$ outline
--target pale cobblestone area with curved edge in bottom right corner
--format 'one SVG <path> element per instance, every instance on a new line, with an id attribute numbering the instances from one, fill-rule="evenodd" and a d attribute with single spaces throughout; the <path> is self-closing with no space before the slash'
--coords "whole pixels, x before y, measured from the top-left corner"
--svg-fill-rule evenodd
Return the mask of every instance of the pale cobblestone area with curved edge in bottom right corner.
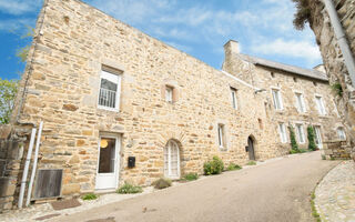
<path id="1" fill-rule="evenodd" d="M 322 221 L 355 222 L 355 163 L 344 161 L 334 168 L 315 191 Z"/>

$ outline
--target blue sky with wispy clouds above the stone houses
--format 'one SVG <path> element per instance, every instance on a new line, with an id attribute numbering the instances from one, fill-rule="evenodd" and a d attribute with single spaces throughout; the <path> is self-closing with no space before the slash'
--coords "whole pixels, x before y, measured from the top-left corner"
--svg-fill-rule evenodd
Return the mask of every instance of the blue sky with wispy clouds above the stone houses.
<path id="1" fill-rule="evenodd" d="M 84 0 L 105 13 L 221 69 L 223 44 L 242 53 L 303 68 L 322 63 L 313 32 L 297 31 L 291 0 Z M 24 64 L 14 56 L 29 43 L 42 0 L 0 0 L 0 78 L 18 79 Z"/>

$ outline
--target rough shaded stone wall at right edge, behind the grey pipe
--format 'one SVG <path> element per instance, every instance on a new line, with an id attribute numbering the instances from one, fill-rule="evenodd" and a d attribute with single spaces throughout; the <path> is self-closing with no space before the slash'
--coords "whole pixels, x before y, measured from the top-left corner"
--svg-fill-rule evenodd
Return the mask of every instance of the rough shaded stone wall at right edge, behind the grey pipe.
<path id="1" fill-rule="evenodd" d="M 355 57 L 355 1 L 354 0 L 334 0 L 338 12 L 338 18 Z M 310 1 L 311 29 L 315 33 L 321 49 L 322 58 L 329 77 L 331 84 L 339 82 L 343 88 L 343 97 L 336 97 L 336 104 L 343 122 L 352 138 L 353 153 L 355 153 L 355 89 L 352 85 L 347 69 L 341 49 L 337 44 L 329 17 L 325 10 L 324 3 L 320 0 Z M 355 154 L 353 154 L 355 160 Z"/>

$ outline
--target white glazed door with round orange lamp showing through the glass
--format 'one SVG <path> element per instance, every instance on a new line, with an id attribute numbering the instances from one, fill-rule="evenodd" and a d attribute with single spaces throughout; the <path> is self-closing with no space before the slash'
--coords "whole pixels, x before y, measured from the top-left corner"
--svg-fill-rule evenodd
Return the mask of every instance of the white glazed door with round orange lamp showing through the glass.
<path id="1" fill-rule="evenodd" d="M 118 137 L 100 137 L 95 189 L 118 188 L 119 153 L 120 139 Z"/>

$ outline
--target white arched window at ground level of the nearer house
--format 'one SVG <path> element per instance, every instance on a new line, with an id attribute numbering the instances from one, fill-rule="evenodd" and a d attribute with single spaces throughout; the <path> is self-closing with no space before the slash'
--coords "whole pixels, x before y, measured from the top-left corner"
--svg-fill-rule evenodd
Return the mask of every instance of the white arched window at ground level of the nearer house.
<path id="1" fill-rule="evenodd" d="M 169 179 L 180 178 L 180 152 L 175 141 L 168 141 L 164 148 L 164 176 Z"/>

